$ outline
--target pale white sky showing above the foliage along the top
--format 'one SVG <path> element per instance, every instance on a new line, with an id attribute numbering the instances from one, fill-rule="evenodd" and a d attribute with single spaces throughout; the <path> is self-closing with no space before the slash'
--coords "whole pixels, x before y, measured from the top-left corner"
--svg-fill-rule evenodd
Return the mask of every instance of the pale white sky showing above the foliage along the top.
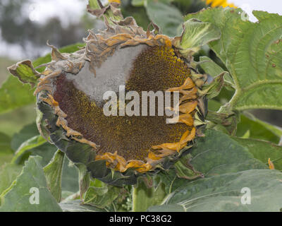
<path id="1" fill-rule="evenodd" d="M 4 0 L 8 1 L 8 0 Z M 68 25 L 73 20 L 78 20 L 85 11 L 87 0 L 31 0 L 32 4 L 23 8 L 25 15 L 30 20 L 37 23 L 44 23 L 47 18 L 59 17 L 62 25 Z M 102 0 L 107 1 L 107 0 Z M 243 8 L 250 16 L 250 20 L 257 21 L 255 16 L 252 16 L 253 10 L 268 11 L 269 13 L 279 13 L 282 15 L 282 0 L 228 0 L 230 3 Z M 16 44 L 6 44 L 1 40 L 0 31 L 0 56 L 8 55 L 8 57 L 16 56 L 21 59 L 23 53 L 20 47 Z"/>

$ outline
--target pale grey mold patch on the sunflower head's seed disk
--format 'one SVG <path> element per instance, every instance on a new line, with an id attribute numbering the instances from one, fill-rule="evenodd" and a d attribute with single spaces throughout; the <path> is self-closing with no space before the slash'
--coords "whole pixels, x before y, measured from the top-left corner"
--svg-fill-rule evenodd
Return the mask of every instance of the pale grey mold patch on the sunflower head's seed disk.
<path id="1" fill-rule="evenodd" d="M 102 66 L 95 69 L 96 77 L 90 71 L 88 61 L 85 61 L 85 65 L 78 74 L 67 73 L 66 77 L 73 81 L 75 88 L 90 97 L 90 100 L 98 105 L 102 104 L 106 91 L 118 93 L 119 86 L 125 85 L 133 61 L 146 47 L 145 44 L 139 44 L 135 47 L 117 49 L 113 56 L 102 63 Z"/>

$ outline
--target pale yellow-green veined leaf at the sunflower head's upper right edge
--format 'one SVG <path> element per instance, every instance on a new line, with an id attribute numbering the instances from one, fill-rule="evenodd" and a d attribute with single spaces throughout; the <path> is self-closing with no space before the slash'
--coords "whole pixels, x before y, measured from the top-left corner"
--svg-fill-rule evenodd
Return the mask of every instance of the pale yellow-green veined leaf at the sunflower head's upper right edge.
<path id="1" fill-rule="evenodd" d="M 183 33 L 176 47 L 184 57 L 194 54 L 200 47 L 214 40 L 219 40 L 221 32 L 212 23 L 190 19 L 183 25 Z"/>

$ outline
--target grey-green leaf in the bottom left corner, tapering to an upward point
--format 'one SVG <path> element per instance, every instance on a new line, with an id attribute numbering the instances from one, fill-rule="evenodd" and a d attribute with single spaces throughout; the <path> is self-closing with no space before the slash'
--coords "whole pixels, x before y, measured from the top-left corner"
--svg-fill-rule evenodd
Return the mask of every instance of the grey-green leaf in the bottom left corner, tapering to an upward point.
<path id="1" fill-rule="evenodd" d="M 0 211 L 61 211 L 59 204 L 47 189 L 40 159 L 41 157 L 30 157 L 21 174 L 1 194 Z M 36 201 L 37 191 L 39 191 L 39 204 L 32 204 L 30 201 Z"/>

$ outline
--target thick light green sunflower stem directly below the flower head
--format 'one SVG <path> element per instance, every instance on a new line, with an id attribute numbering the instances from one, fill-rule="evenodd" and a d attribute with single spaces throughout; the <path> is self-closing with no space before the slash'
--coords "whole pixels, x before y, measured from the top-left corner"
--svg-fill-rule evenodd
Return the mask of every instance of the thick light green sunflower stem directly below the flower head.
<path id="1" fill-rule="evenodd" d="M 133 187 L 133 212 L 145 212 L 150 206 L 160 205 L 165 197 L 164 184 L 149 186 L 146 179 L 140 178 Z"/>

